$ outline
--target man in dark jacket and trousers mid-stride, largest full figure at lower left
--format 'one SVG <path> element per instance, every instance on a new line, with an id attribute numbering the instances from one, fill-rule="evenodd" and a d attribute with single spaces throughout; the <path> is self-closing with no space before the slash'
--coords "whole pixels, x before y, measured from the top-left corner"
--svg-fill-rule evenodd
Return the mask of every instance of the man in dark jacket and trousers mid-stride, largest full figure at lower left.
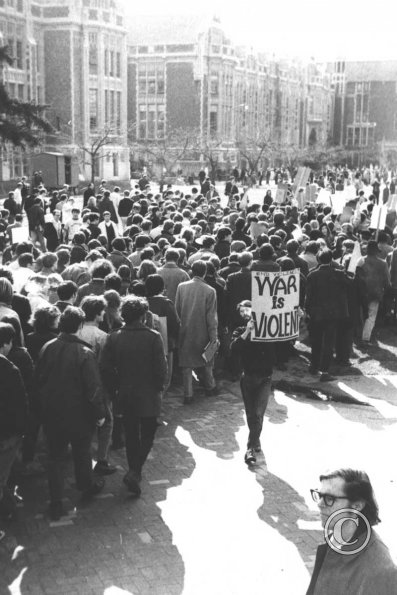
<path id="1" fill-rule="evenodd" d="M 105 482 L 92 475 L 91 440 L 105 421 L 103 390 L 94 352 L 77 333 L 84 321 L 80 308 L 69 306 L 61 315 L 60 335 L 40 352 L 36 374 L 44 433 L 48 444 L 50 516 L 59 519 L 62 507 L 63 460 L 72 445 L 77 489 L 83 497 L 99 493 Z"/>

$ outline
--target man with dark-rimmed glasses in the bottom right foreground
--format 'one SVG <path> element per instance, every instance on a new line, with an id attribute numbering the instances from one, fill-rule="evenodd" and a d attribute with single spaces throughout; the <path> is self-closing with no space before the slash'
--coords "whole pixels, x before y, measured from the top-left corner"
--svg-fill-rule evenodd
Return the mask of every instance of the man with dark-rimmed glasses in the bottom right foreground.
<path id="1" fill-rule="evenodd" d="M 368 475 L 337 469 L 320 482 L 311 494 L 326 543 L 317 549 L 306 595 L 397 595 L 397 568 L 372 530 L 380 519 Z"/>

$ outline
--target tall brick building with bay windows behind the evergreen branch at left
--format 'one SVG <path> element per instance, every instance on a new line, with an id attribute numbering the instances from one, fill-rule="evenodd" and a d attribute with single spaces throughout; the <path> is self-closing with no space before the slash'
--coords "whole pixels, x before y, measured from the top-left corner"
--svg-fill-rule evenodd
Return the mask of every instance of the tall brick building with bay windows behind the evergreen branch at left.
<path id="1" fill-rule="evenodd" d="M 10 22 L 15 22 L 12 45 Z M 0 6 L 0 23 L 5 23 L 1 30 L 6 28 L 16 57 L 13 68 L 4 68 L 9 92 L 49 105 L 55 134 L 44 149 L 68 155 L 78 163 L 80 179 L 89 179 L 92 158 L 83 147 L 90 149 L 106 135 L 94 160 L 95 174 L 128 179 L 127 32 L 119 3 L 8 0 L 7 7 Z M 18 153 L 8 153 L 14 167 L 7 170 L 3 158 L 3 180 L 31 173 L 26 158 L 18 166 Z"/>

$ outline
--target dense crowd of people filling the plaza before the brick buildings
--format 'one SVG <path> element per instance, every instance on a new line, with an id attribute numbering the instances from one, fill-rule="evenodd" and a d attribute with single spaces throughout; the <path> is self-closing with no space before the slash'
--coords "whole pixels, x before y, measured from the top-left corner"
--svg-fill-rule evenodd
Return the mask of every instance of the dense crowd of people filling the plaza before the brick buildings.
<path id="1" fill-rule="evenodd" d="M 232 380 L 241 375 L 245 461 L 254 463 L 273 368 L 287 368 L 294 342 L 250 340 L 252 271 L 299 270 L 301 339 L 311 345 L 308 373 L 321 382 L 333 380 L 335 360 L 350 366 L 355 345 L 370 345 L 377 320 L 394 323 L 395 178 L 372 166 L 330 167 L 300 188 L 295 175 L 261 172 L 254 199 L 238 171 L 221 195 L 204 171 L 188 191 L 156 193 L 143 175 L 126 189 L 89 184 L 81 198 L 25 179 L 9 193 L 0 218 L 2 516 L 16 509 L 16 459 L 22 473 L 40 466 L 41 429 L 52 519 L 65 513 L 69 444 L 84 498 L 116 472 L 111 446 L 126 447 L 123 481 L 139 496 L 162 397 L 178 381 L 186 405 L 197 382 L 216 395 L 215 364 Z M 350 211 L 336 214 L 321 189 L 331 197 L 348 189 Z M 390 207 L 382 229 L 371 227 L 379 205 Z"/>

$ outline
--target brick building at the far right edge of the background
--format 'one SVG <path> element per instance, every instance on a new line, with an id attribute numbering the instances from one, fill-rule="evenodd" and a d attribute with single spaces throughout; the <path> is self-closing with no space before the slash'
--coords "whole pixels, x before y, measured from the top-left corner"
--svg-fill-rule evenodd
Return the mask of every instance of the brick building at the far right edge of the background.
<path id="1" fill-rule="evenodd" d="M 334 144 L 359 152 L 397 151 L 397 61 L 336 62 Z"/>

